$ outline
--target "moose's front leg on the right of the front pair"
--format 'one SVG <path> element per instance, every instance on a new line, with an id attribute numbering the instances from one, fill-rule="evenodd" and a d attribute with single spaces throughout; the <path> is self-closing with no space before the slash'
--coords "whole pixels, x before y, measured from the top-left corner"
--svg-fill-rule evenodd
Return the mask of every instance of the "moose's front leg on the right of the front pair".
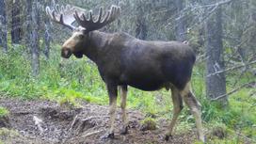
<path id="1" fill-rule="evenodd" d="M 120 87 L 120 108 L 121 108 L 121 122 L 122 122 L 122 128 L 120 130 L 121 135 L 125 135 L 128 133 L 128 120 L 127 120 L 127 114 L 125 111 L 126 97 L 127 97 L 127 86 L 121 86 Z"/>

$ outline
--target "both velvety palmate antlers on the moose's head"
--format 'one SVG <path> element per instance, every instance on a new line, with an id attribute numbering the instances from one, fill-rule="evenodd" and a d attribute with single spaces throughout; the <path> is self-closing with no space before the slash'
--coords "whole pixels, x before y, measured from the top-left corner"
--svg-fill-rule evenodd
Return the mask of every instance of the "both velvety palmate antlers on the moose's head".
<path id="1" fill-rule="evenodd" d="M 98 19 L 94 22 L 92 10 L 89 11 L 89 19 L 86 18 L 85 11 L 83 8 L 71 7 L 70 5 L 66 7 L 56 5 L 53 9 L 46 7 L 46 13 L 57 24 L 62 24 L 73 30 L 75 26 L 72 24 L 76 21 L 79 25 L 86 28 L 87 32 L 100 29 L 104 25 L 112 23 L 120 16 L 120 7 L 111 6 L 105 14 L 103 14 L 103 8 L 100 8 Z M 102 20 L 103 17 L 104 19 Z"/>

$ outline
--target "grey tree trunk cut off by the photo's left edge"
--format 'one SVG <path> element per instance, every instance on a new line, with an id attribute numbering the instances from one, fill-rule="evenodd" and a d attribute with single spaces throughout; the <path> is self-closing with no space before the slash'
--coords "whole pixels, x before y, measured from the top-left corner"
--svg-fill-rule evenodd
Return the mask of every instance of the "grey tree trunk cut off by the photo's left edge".
<path id="1" fill-rule="evenodd" d="M 8 22 L 5 0 L 0 0 L 0 46 L 8 52 Z"/>

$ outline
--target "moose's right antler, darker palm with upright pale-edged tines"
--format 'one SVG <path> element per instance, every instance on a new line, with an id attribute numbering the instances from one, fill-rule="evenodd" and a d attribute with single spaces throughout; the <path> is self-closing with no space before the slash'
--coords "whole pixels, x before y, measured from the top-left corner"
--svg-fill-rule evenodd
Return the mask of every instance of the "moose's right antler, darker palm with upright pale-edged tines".
<path id="1" fill-rule="evenodd" d="M 92 16 L 92 11 L 89 11 L 89 19 L 86 18 L 85 13 L 82 13 L 82 16 L 79 16 L 79 11 L 75 10 L 73 17 L 76 22 L 82 27 L 86 28 L 87 32 L 100 29 L 106 24 L 110 24 L 115 21 L 120 16 L 120 7 L 111 6 L 111 8 L 104 14 L 103 17 L 103 8 L 100 8 L 99 16 L 96 22 Z M 82 18 L 81 18 L 82 17 Z"/>

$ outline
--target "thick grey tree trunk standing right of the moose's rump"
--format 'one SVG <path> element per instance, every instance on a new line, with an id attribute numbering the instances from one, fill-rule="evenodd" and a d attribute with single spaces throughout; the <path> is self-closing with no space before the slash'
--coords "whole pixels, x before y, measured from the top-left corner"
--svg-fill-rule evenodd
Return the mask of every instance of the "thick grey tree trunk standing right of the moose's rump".
<path id="1" fill-rule="evenodd" d="M 222 11 L 219 6 L 215 13 L 206 22 L 206 93 L 209 99 L 226 93 L 225 73 L 223 71 L 224 57 L 222 44 Z M 225 106 L 228 104 L 228 98 L 223 97 L 219 102 Z"/>

